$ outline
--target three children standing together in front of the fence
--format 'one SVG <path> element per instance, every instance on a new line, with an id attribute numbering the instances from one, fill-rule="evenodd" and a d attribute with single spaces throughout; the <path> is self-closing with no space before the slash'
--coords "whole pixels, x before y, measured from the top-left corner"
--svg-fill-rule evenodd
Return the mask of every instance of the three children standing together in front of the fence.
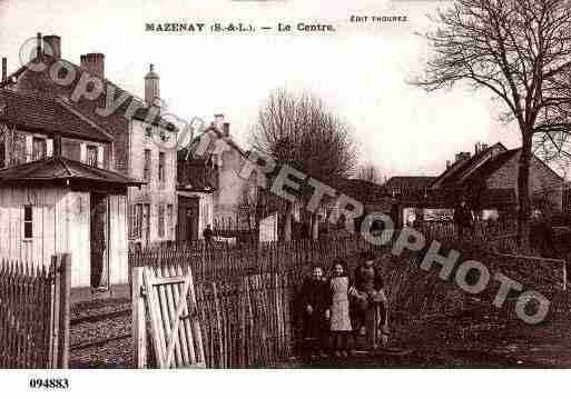
<path id="1" fill-rule="evenodd" d="M 388 307 L 374 255 L 362 255 L 353 278 L 347 271 L 343 260 L 333 262 L 328 278 L 321 266 L 314 266 L 302 286 L 303 350 L 308 357 L 326 357 L 329 348 L 335 357 L 346 357 L 357 348 L 361 335 L 370 350 L 387 341 Z"/>

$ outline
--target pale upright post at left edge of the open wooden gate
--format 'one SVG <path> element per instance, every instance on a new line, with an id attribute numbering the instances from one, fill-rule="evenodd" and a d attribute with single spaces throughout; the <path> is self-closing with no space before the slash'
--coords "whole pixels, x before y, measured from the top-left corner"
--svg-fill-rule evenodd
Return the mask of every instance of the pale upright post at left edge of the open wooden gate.
<path id="1" fill-rule="evenodd" d="M 137 257 L 132 258 L 138 259 Z M 145 298 L 142 297 L 142 265 L 129 265 L 131 273 L 132 311 L 132 361 L 134 367 L 147 367 L 147 326 L 145 322 Z"/>

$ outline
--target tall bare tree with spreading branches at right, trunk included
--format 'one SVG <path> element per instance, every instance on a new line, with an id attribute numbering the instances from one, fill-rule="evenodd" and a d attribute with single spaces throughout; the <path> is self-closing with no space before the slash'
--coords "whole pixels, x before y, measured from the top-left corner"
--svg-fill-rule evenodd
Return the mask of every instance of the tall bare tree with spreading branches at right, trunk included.
<path id="1" fill-rule="evenodd" d="M 515 121 L 522 140 L 518 173 L 518 232 L 528 240 L 531 211 L 529 170 L 533 140 L 567 134 L 571 72 L 571 0 L 455 0 L 425 34 L 433 57 L 414 81 L 426 90 L 467 82 L 485 88 Z"/>

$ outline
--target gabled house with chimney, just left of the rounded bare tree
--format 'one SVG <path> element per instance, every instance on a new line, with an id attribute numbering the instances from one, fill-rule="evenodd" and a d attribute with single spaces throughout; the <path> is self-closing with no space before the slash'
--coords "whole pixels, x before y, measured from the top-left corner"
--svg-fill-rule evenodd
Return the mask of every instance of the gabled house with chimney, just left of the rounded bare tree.
<path id="1" fill-rule="evenodd" d="M 200 150 L 198 151 L 198 149 Z M 275 223 L 262 215 L 260 188 L 265 176 L 254 171 L 249 179 L 239 177 L 248 153 L 232 138 L 230 124 L 224 114 L 215 114 L 213 123 L 194 139 L 188 149 L 178 153 L 177 241 L 201 239 L 211 225 L 218 239 L 258 240 L 275 235 Z M 258 181 L 259 180 L 259 181 Z"/>

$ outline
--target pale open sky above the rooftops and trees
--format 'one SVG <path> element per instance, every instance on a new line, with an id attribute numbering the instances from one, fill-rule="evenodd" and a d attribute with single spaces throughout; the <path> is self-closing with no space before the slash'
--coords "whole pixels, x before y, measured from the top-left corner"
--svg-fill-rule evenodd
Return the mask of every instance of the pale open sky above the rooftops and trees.
<path id="1" fill-rule="evenodd" d="M 9 72 L 37 32 L 61 37 L 62 57 L 105 53 L 105 74 L 144 97 L 149 63 L 160 76 L 168 110 L 190 121 L 224 113 L 247 148 L 250 127 L 279 88 L 324 99 L 353 130 L 361 162 L 391 176 L 436 176 L 476 141 L 519 146 L 513 126 L 499 121 L 490 92 L 457 87 L 426 93 L 407 83 L 430 54 L 415 32 L 431 27 L 439 0 L 0 0 L 0 56 Z M 367 16 L 366 22 L 351 22 Z M 406 16 L 373 22 L 372 16 Z M 220 22 L 255 27 L 289 23 L 293 32 L 147 32 L 146 23 Z M 297 23 L 326 23 L 334 32 L 297 32 Z"/>

